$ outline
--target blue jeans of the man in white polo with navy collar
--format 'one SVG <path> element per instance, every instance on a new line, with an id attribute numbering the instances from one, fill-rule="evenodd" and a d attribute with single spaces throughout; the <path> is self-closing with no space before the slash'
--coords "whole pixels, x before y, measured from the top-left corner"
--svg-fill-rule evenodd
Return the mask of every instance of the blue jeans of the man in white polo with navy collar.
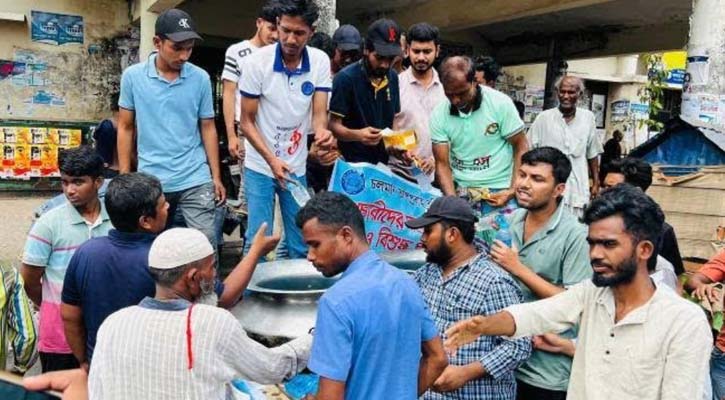
<path id="1" fill-rule="evenodd" d="M 307 187 L 307 180 L 304 176 L 296 177 L 304 187 Z M 292 194 L 282 189 L 276 179 L 267 175 L 244 168 L 244 192 L 247 196 L 247 207 L 249 210 L 247 220 L 247 232 L 244 235 L 244 253 L 249 251 L 252 239 L 263 222 L 267 223 L 267 235 L 272 234 L 274 226 L 274 195 L 279 197 L 280 210 L 282 211 L 282 224 L 284 225 L 284 245 L 289 258 L 306 258 L 307 246 L 302 240 L 302 231 L 295 224 L 295 217 L 300 210 Z M 282 255 L 278 253 L 278 256 Z"/>

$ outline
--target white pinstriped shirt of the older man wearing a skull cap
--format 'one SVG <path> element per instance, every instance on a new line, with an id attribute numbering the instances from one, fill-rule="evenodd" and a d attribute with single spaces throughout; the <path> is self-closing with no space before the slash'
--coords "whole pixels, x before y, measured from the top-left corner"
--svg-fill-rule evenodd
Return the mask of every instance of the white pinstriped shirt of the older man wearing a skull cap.
<path id="1" fill-rule="evenodd" d="M 98 331 L 90 399 L 224 399 L 232 379 L 279 383 L 307 364 L 310 335 L 270 349 L 228 311 L 197 304 L 188 369 L 187 312 L 133 306 L 110 315 Z"/>

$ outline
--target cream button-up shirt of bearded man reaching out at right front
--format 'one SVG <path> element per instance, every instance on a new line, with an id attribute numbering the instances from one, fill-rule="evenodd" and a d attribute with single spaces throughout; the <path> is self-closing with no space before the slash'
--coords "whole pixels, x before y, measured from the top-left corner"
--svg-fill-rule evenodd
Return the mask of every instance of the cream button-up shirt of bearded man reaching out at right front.
<path id="1" fill-rule="evenodd" d="M 701 399 L 710 379 L 712 335 L 700 308 L 669 289 L 614 322 L 611 288 L 591 281 L 506 309 L 514 337 L 579 324 L 568 400 Z"/>

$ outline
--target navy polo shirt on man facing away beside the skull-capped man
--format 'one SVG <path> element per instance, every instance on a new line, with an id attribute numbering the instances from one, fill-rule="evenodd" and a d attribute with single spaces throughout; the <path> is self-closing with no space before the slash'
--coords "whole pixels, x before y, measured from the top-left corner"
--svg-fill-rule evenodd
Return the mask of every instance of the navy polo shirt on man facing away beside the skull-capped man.
<path id="1" fill-rule="evenodd" d="M 156 293 L 148 267 L 149 249 L 155 237 L 113 229 L 107 237 L 85 242 L 71 258 L 61 299 L 83 310 L 89 360 L 98 328 L 106 317 Z"/>

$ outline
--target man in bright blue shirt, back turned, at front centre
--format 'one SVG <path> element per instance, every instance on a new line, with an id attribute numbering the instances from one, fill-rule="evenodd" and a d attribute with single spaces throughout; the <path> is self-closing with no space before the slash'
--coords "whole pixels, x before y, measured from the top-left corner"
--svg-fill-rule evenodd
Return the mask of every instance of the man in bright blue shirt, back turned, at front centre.
<path id="1" fill-rule="evenodd" d="M 320 299 L 308 367 L 320 399 L 413 400 L 448 364 L 420 289 L 371 251 L 360 210 L 322 192 L 297 214 L 307 259 L 330 277 Z"/>

